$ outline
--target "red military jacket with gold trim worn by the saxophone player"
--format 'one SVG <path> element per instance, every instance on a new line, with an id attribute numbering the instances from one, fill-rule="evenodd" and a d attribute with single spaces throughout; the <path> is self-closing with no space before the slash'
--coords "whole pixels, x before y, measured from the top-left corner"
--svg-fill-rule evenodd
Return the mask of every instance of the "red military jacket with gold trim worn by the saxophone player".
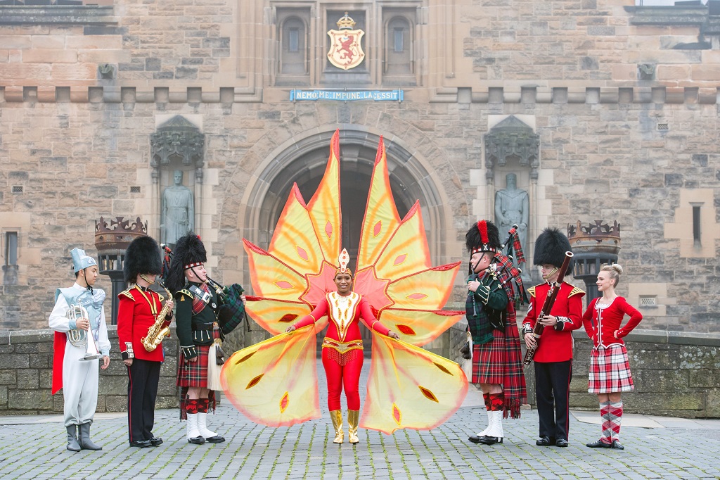
<path id="1" fill-rule="evenodd" d="M 139 358 L 162 362 L 162 345 L 152 352 L 143 347 L 141 339 L 148 334 L 150 327 L 155 324 L 155 317 L 163 308 L 163 296 L 153 290 L 143 290 L 134 285 L 117 295 L 120 303 L 117 306 L 117 337 L 120 340 L 120 355 L 122 360 Z M 172 312 L 165 317 L 165 326 L 170 324 Z"/>

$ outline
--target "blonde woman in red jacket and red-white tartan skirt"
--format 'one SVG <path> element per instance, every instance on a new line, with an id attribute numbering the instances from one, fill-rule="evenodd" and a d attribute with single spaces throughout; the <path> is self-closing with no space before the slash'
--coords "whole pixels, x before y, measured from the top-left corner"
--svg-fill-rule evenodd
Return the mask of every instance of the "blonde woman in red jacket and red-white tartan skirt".
<path id="1" fill-rule="evenodd" d="M 591 301 L 582 316 L 585 332 L 595 344 L 590 355 L 588 392 L 598 394 L 600 417 L 603 417 L 603 437 L 588 443 L 590 448 L 624 450 L 618 440 L 623 416 L 620 396 L 621 392 L 634 390 L 635 387 L 623 337 L 640 323 L 642 314 L 615 293 L 622 272 L 623 267 L 617 264 L 600 269 L 598 290 L 603 296 Z M 621 326 L 626 315 L 630 319 L 625 326 Z"/>

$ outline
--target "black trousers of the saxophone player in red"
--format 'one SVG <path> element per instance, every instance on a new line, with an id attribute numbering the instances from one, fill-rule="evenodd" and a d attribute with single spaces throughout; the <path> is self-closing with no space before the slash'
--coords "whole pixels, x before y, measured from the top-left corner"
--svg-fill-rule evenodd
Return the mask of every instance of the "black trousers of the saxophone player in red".
<path id="1" fill-rule="evenodd" d="M 155 425 L 162 362 L 134 358 L 127 367 L 127 423 L 130 442 L 150 440 Z"/>

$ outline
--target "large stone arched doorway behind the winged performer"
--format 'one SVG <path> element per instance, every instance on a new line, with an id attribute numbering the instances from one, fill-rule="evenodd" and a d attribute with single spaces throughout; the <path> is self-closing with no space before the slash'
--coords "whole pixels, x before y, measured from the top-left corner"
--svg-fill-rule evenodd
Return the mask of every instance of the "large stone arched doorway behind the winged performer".
<path id="1" fill-rule="evenodd" d="M 333 130 L 294 138 L 276 148 L 261 167 L 243 198 L 247 210 L 241 215 L 243 236 L 261 248 L 268 248 L 274 228 L 292 185 L 297 183 L 305 201 L 317 190 L 325 173 Z M 370 177 L 377 154 L 379 135 L 361 130 L 341 130 L 341 208 L 343 246 L 356 262 L 361 223 L 364 218 Z M 410 154 L 397 141 L 384 141 L 390 187 L 397 212 L 404 217 L 416 200 L 420 202 L 423 223 L 433 263 L 444 261 L 446 202 L 423 161 Z M 318 339 L 322 341 L 322 335 Z M 366 347 L 370 342 L 366 342 Z"/>

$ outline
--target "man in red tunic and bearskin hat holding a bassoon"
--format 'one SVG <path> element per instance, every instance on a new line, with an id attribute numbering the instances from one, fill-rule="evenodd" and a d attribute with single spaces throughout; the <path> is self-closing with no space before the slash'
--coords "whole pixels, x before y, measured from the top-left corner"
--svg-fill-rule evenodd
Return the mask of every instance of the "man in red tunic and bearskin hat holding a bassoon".
<path id="1" fill-rule="evenodd" d="M 544 325 L 535 352 L 535 399 L 540 418 L 540 438 L 536 445 L 567 447 L 570 430 L 570 380 L 572 379 L 572 330 L 582 325 L 582 297 L 585 292 L 558 278 L 559 268 L 570 252 L 570 241 L 557 228 L 546 228 L 535 241 L 534 264 L 541 266 L 544 283 L 528 288 L 530 306 L 523 320 L 523 336 L 528 348 L 537 345 L 533 329 Z M 572 268 L 568 268 L 565 275 Z M 553 283 L 559 293 L 550 314 L 539 319 Z"/>

